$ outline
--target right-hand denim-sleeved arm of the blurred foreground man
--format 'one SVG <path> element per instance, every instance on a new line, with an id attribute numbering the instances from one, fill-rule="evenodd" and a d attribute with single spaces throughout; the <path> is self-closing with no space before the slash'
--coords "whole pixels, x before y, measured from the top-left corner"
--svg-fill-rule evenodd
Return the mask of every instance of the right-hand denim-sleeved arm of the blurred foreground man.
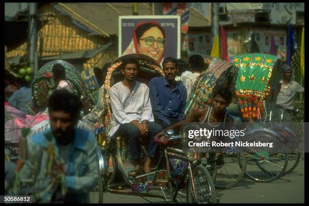
<path id="1" fill-rule="evenodd" d="M 94 135 L 92 133 L 88 134 L 89 146 L 87 148 L 87 158 L 85 163 L 81 163 L 78 171 L 81 175 L 76 174 L 75 176 L 65 176 L 65 184 L 69 191 L 89 192 L 96 184 L 98 175 L 96 155 L 97 144 L 95 142 Z"/>

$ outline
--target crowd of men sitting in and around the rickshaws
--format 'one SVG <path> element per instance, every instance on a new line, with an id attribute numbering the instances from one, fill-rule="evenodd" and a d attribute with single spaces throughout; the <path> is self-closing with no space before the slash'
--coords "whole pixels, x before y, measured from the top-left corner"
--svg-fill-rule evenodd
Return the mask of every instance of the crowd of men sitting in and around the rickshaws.
<path id="1" fill-rule="evenodd" d="M 136 80 L 139 72 L 136 59 L 131 57 L 122 62 L 123 79 L 110 88 L 113 127 L 108 135 L 110 138 L 121 136 L 127 141 L 134 165 L 129 176 L 151 172 L 151 162 L 158 150 L 155 139 L 165 141 L 162 132 L 168 129 L 178 131 L 188 122 L 212 122 L 220 128 L 233 122 L 227 112 L 233 95 L 224 86 L 215 88 L 212 107 L 204 104 L 185 119 L 186 102 L 193 92 L 194 82 L 208 68 L 208 63 L 200 55 L 192 55 L 188 62 L 187 66 L 183 60 L 163 59 L 164 76 L 152 78 L 148 85 Z M 56 64 L 53 73 L 57 89 L 50 95 L 44 112 L 49 118 L 35 125 L 28 134 L 27 159 L 19 171 L 19 178 L 20 181 L 33 179 L 33 187 L 40 191 L 38 196 L 33 196 L 36 201 L 89 202 L 88 192 L 96 185 L 99 172 L 93 131 L 101 118 L 104 81 L 100 81 L 103 85 L 100 85 L 97 105 L 82 118 L 81 98 L 74 94 L 72 84 L 66 79 L 65 68 Z M 304 88 L 291 81 L 291 67 L 284 65 L 282 73 L 277 106 L 287 114 L 286 121 L 291 121 L 295 94 L 303 92 Z M 29 96 L 31 89 L 22 87 L 8 103 L 27 114 L 24 106 Z M 84 125 L 91 126 L 87 127 L 89 131 Z M 149 141 L 144 165 L 140 139 Z M 5 170 L 6 174 L 12 174 L 12 167 Z M 12 186 L 13 179 L 6 175 L 6 190 Z M 46 190 L 47 187 L 50 189 Z"/>

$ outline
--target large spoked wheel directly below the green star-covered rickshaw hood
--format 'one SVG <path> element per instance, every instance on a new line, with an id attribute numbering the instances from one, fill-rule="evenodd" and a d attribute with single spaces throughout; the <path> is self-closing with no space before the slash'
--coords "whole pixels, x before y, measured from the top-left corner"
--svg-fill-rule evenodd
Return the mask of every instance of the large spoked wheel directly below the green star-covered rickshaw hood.
<path id="1" fill-rule="evenodd" d="M 246 175 L 256 182 L 272 182 L 280 178 L 287 167 L 287 151 L 278 138 L 268 133 L 256 133 L 248 142 L 272 143 L 272 147 L 246 147 Z"/>

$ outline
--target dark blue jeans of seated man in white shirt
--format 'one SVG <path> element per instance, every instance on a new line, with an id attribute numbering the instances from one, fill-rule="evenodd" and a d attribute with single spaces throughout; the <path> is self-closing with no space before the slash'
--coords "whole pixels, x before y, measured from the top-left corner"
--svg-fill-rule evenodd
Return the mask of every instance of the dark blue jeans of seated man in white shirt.
<path id="1" fill-rule="evenodd" d="M 154 158 L 156 156 L 158 144 L 153 141 L 153 139 L 155 139 L 156 135 L 162 130 L 163 128 L 159 124 L 156 124 L 155 122 L 148 122 L 147 137 L 149 138 L 150 136 L 150 141 L 148 144 L 147 156 L 150 158 Z M 140 137 L 139 129 L 131 123 L 125 123 L 120 125 L 117 133 L 121 136 L 121 138 L 128 142 L 132 159 L 140 159 L 140 146 L 138 140 Z"/>

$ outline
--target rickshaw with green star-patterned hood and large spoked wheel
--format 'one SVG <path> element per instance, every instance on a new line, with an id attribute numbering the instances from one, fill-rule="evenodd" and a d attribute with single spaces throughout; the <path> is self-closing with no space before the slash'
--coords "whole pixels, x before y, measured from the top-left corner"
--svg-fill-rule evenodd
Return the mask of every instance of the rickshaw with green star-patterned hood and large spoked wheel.
<path id="1" fill-rule="evenodd" d="M 247 128 L 245 141 L 272 142 L 273 148 L 245 148 L 246 176 L 257 182 L 271 182 L 280 178 L 287 167 L 287 151 L 276 130 L 265 126 L 270 105 L 276 102 L 283 55 L 243 54 L 230 58 L 238 69 L 236 102 L 239 116 Z M 233 116 L 233 115 L 232 115 Z"/>

